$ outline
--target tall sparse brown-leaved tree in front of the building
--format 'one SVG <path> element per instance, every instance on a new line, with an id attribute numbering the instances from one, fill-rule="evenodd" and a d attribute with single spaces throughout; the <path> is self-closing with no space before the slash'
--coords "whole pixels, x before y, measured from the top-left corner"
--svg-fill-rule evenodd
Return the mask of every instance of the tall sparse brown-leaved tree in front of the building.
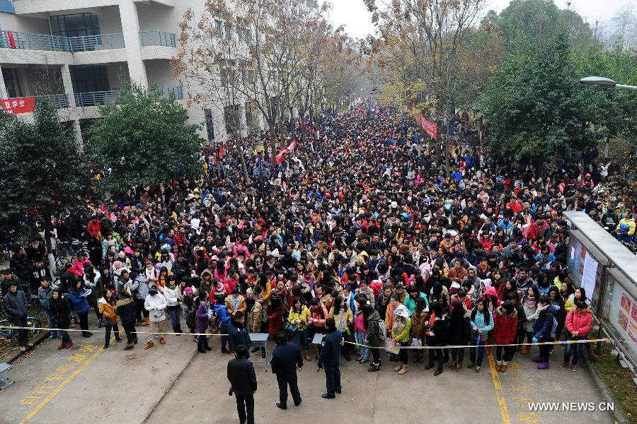
<path id="1" fill-rule="evenodd" d="M 210 100 L 211 92 L 218 91 L 217 81 L 225 79 L 228 88 L 262 114 L 274 157 L 277 124 L 284 112 L 292 118 L 299 96 L 314 78 L 308 45 L 317 46 L 319 28 L 329 30 L 322 10 L 306 0 L 207 1 L 200 13 L 184 13 L 173 69 L 195 92 L 193 98 Z"/>

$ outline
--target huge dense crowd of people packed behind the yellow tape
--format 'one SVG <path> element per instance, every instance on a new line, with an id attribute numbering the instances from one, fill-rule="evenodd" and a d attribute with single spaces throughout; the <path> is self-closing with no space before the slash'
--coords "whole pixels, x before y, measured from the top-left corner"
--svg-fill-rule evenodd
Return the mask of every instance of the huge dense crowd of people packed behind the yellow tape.
<path id="1" fill-rule="evenodd" d="M 274 163 L 246 155 L 249 181 L 238 149 L 207 147 L 199 179 L 137 187 L 59 220 L 59 237 L 87 242 L 59 279 L 47 271 L 42 240 L 14 247 L 4 310 L 25 324 L 23 292 L 37 291 L 49 326 L 62 329 L 52 331 L 60 349 L 71 348 L 64 329 L 75 322 L 93 336 L 92 310 L 104 348 L 111 331 L 122 341 L 121 322 L 126 349 L 142 326 L 146 349 L 168 332 L 191 333 L 202 354 L 212 348 L 201 333 L 222 334 L 221 353 L 258 352 L 249 333 L 285 333 L 311 361 L 328 321 L 350 342 L 340 355 L 369 372 L 384 349 L 398 375 L 425 361 L 435 375 L 445 363 L 460 372 L 466 351 L 475 372 L 486 354 L 505 372 L 515 355 L 535 350 L 537 367 L 549 368 L 561 348 L 516 345 L 585 339 L 592 325 L 590 293 L 567 276 L 562 211 L 585 211 L 632 242 L 635 206 L 612 199 L 608 167 L 591 155 L 538 173 L 460 141 L 447 177 L 405 122 L 366 103 L 290 124 L 282 148 L 295 143 Z M 28 347 L 26 331 L 18 344 Z M 561 367 L 575 371 L 584 348 L 594 355 L 584 343 L 566 345 Z"/>

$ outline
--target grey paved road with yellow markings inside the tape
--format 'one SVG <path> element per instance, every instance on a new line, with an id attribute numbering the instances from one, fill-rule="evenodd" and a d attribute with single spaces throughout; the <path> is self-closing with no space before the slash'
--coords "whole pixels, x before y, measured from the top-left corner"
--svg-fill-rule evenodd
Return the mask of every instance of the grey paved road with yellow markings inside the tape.
<path id="1" fill-rule="evenodd" d="M 118 343 L 103 351 L 98 333 L 88 339 L 75 334 L 71 351 L 57 351 L 57 341 L 45 342 L 11 370 L 16 384 L 0 393 L 0 423 L 238 422 L 234 397 L 228 396 L 229 357 L 217 353 L 217 339 L 214 353 L 195 355 L 190 336 L 170 336 L 166 345 L 156 343 L 149 351 L 142 338 L 133 351 L 123 351 Z M 570 372 L 556 366 L 561 352 L 558 347 L 547 371 L 536 370 L 529 356 L 518 354 L 504 374 L 485 364 L 480 373 L 446 369 L 434 377 L 424 364 L 412 364 L 407 375 L 398 376 L 386 358 L 378 373 L 344 362 L 343 394 L 333 401 L 321 399 L 324 374 L 312 361 L 299 377 L 303 404 L 294 407 L 290 400 L 287 411 L 275 407 L 278 392 L 271 372 L 255 364 L 256 422 L 422 423 L 432 417 L 441 424 L 613 423 L 601 411 L 529 412 L 527 402 L 602 401 L 585 367 Z"/>

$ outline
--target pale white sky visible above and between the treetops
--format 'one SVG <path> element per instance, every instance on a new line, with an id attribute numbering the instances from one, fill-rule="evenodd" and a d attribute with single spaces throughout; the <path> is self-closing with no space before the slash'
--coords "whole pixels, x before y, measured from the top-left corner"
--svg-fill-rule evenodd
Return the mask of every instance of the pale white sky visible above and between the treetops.
<path id="1" fill-rule="evenodd" d="M 510 0 L 488 0 L 489 9 L 500 12 L 508 6 Z M 554 0 L 559 8 L 566 8 L 568 0 Z M 637 4 L 636 0 L 570 0 L 570 8 L 580 13 L 591 24 L 595 20 L 603 22 L 612 18 L 615 12 L 626 4 Z M 331 16 L 335 27 L 344 25 L 352 37 L 365 37 L 373 32 L 372 14 L 367 11 L 362 0 L 333 0 Z M 603 5 L 603 7 L 602 7 Z"/>

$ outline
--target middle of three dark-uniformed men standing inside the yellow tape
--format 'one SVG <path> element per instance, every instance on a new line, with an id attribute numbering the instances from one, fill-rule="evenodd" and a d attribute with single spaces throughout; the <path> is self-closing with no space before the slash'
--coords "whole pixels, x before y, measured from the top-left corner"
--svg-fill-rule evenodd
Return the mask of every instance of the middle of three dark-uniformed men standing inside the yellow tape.
<path id="1" fill-rule="evenodd" d="M 277 348 L 272 352 L 272 372 L 277 375 L 277 383 L 279 383 L 279 401 L 277 407 L 287 409 L 287 386 L 292 393 L 294 406 L 301 404 L 301 393 L 299 392 L 299 384 L 297 382 L 297 367 L 299 370 L 303 367 L 303 357 L 301 349 L 296 343 L 287 343 L 285 334 L 277 334 L 275 339 Z"/>

